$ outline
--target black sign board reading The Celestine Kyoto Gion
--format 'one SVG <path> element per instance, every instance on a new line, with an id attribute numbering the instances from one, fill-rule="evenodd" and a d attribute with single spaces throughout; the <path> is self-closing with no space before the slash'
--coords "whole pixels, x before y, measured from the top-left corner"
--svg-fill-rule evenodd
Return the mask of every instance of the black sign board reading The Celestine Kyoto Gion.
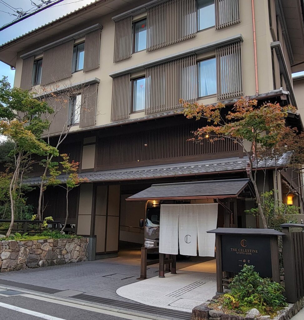
<path id="1" fill-rule="evenodd" d="M 221 242 L 223 271 L 238 273 L 246 264 L 260 276 L 272 277 L 270 237 L 223 234 Z"/>

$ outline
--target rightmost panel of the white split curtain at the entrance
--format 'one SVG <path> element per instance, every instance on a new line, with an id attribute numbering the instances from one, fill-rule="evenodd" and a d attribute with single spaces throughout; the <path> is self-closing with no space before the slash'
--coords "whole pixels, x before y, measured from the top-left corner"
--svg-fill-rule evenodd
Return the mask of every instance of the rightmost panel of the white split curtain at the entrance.
<path id="1" fill-rule="evenodd" d="M 203 204 L 197 214 L 199 256 L 214 257 L 215 234 L 207 233 L 216 228 L 217 203 Z"/>

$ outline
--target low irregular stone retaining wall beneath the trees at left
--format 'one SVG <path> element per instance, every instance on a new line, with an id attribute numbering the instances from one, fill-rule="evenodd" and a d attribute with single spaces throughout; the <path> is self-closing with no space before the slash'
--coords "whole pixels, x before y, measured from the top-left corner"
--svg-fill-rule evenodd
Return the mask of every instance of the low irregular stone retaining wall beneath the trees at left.
<path id="1" fill-rule="evenodd" d="M 0 241 L 0 272 L 88 260 L 89 239 Z"/>

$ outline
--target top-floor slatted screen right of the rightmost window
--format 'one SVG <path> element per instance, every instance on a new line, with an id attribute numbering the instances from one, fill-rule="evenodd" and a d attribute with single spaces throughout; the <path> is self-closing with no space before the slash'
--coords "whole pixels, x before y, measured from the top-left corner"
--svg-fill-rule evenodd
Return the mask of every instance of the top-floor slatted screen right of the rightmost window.
<path id="1" fill-rule="evenodd" d="M 240 21 L 239 0 L 215 0 L 216 29 L 222 29 Z"/>

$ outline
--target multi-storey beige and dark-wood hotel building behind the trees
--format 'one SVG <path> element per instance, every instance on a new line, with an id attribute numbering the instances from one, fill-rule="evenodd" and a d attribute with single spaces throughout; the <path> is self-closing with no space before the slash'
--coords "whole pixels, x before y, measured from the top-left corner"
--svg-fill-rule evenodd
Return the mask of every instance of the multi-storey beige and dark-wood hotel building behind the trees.
<path id="1" fill-rule="evenodd" d="M 178 113 L 179 99 L 233 105 L 241 96 L 292 104 L 292 72 L 304 70 L 300 0 L 106 0 L 87 5 L 0 47 L 16 68 L 14 86 L 55 109 L 47 135 L 80 162 L 90 182 L 70 194 L 69 223 L 96 235 L 99 254 L 119 240 L 142 243 L 145 202 L 125 199 L 155 183 L 247 178 L 236 144 L 193 144 L 200 123 Z M 56 99 L 54 99 L 54 94 Z M 299 116 L 288 119 L 301 128 Z M 30 183 L 39 183 L 34 168 Z M 267 189 L 281 201 L 288 172 L 269 168 Z M 275 180 L 278 180 L 277 182 Z M 294 204 L 301 206 L 296 183 Z M 45 214 L 64 219 L 64 195 L 47 188 Z M 35 203 L 37 194 L 29 195 Z M 194 200 L 193 200 L 194 201 Z M 200 200 L 213 202 L 215 199 Z M 257 227 L 252 197 L 228 201 L 218 226 Z M 54 206 L 57 210 L 54 212 Z M 220 210 L 219 210 L 220 211 Z"/>

